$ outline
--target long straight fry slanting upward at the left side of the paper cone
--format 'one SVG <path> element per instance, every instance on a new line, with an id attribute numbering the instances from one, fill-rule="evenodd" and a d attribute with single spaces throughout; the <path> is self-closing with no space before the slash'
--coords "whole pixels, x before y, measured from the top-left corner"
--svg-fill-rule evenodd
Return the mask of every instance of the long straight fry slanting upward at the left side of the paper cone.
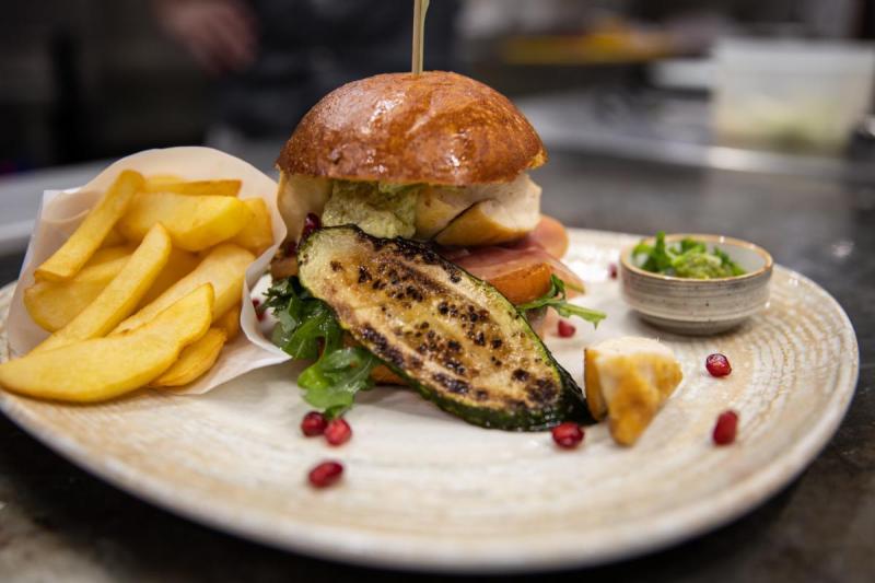
<path id="1" fill-rule="evenodd" d="M 122 171 L 82 224 L 51 257 L 36 268 L 34 276 L 50 281 L 67 281 L 75 276 L 127 212 L 142 184 L 143 177 L 139 172 Z"/>

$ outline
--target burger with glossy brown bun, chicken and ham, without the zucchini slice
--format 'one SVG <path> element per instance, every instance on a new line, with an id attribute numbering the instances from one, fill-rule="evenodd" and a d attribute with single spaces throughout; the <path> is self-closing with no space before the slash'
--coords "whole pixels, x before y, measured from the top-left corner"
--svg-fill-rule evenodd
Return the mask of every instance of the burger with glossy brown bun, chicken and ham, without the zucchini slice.
<path id="1" fill-rule="evenodd" d="M 304 116 L 277 160 L 278 201 L 294 242 L 308 214 L 433 242 L 525 303 L 549 290 L 552 272 L 580 285 L 558 261 L 565 230 L 541 217 L 541 188 L 528 175 L 545 162 L 535 128 L 491 88 L 452 72 L 381 74 Z M 291 275 L 281 258 L 275 275 Z"/>

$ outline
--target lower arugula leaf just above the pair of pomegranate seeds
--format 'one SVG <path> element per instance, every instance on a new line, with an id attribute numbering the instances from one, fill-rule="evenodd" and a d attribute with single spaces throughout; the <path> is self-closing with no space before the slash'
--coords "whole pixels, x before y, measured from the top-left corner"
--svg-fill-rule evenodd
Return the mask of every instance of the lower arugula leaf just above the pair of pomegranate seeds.
<path id="1" fill-rule="evenodd" d="M 380 365 L 380 359 L 361 347 L 349 347 L 325 352 L 314 364 L 298 376 L 303 388 L 304 400 L 324 409 L 335 418 L 343 415 L 355 399 L 359 390 L 374 386 L 371 371 Z"/>

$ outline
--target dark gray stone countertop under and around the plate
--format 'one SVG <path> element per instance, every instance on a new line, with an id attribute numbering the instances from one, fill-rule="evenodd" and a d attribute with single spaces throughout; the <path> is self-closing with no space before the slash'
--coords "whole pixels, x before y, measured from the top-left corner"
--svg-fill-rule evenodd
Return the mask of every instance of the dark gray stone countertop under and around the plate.
<path id="1" fill-rule="evenodd" d="M 875 581 L 875 185 L 553 152 L 535 173 L 568 225 L 754 241 L 832 293 L 856 329 L 856 395 L 796 480 L 677 547 L 558 581 Z M 22 257 L 0 258 L 0 283 Z M 328 563 L 192 524 L 126 494 L 0 417 L 1 581 L 436 581 Z"/>

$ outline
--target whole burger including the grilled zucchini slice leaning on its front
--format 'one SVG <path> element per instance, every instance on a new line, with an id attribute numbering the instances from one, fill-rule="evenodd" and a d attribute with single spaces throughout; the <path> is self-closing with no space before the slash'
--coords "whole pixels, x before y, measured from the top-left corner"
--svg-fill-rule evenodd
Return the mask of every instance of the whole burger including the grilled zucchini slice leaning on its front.
<path id="1" fill-rule="evenodd" d="M 567 232 L 541 214 L 528 174 L 545 162 L 506 97 L 452 72 L 354 81 L 302 118 L 277 160 L 289 238 L 268 305 L 331 312 L 345 340 L 319 338 L 323 385 L 338 364 L 326 353 L 359 350 L 348 372 L 374 357 L 380 381 L 481 425 L 536 429 L 581 410 L 580 388 L 533 330 L 549 306 L 604 315 L 564 301 L 583 284 L 560 261 Z M 298 347 L 302 317 L 288 322 L 277 341 Z M 306 372 L 299 384 L 317 385 Z"/>

